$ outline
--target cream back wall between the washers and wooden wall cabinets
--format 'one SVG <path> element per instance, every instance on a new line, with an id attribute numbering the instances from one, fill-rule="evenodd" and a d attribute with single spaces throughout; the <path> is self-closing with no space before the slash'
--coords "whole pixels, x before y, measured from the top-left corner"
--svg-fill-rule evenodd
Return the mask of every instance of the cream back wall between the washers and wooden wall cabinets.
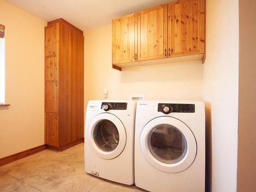
<path id="1" fill-rule="evenodd" d="M 112 69 L 111 25 L 84 31 L 84 103 L 89 99 L 130 99 L 145 94 L 146 99 L 202 100 L 201 61 L 146 67 Z M 86 110 L 86 109 L 85 109 Z"/>

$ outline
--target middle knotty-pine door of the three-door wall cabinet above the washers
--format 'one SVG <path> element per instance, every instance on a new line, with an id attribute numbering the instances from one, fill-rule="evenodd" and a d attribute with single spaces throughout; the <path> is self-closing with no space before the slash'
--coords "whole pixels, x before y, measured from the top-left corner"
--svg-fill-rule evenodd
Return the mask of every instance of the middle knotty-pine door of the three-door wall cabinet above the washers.
<path id="1" fill-rule="evenodd" d="M 167 57 L 167 5 L 138 13 L 138 60 Z"/>

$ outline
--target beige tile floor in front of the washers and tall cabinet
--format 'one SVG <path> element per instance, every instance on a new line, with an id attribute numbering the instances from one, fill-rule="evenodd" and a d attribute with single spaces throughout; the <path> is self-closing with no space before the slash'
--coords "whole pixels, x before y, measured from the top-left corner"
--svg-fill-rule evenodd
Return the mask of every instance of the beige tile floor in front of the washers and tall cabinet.
<path id="1" fill-rule="evenodd" d="M 143 191 L 86 174 L 83 143 L 0 166 L 0 191 Z"/>

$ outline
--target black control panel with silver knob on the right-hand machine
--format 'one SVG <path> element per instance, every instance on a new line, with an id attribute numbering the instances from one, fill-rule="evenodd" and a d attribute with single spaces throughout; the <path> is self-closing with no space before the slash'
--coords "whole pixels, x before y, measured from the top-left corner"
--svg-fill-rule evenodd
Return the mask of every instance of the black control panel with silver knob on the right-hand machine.
<path id="1" fill-rule="evenodd" d="M 158 103 L 157 111 L 169 113 L 195 113 L 195 104 Z"/>

